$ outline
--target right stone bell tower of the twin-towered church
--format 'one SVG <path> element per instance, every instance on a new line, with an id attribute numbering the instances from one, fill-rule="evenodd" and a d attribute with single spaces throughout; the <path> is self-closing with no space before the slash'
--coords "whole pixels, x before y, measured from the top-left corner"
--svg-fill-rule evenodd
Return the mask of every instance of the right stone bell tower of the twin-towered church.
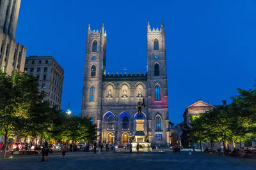
<path id="1" fill-rule="evenodd" d="M 149 131 L 156 143 L 169 143 L 164 22 L 160 29 L 147 24 L 147 76 Z"/>

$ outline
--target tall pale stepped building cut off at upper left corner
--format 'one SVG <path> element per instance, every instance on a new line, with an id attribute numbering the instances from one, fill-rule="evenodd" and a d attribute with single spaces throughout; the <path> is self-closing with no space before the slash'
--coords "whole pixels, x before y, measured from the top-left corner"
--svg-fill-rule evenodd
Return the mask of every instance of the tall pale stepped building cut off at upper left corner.
<path id="1" fill-rule="evenodd" d="M 15 41 L 20 0 L 0 1 L 0 69 L 6 73 L 24 71 L 26 47 Z"/>

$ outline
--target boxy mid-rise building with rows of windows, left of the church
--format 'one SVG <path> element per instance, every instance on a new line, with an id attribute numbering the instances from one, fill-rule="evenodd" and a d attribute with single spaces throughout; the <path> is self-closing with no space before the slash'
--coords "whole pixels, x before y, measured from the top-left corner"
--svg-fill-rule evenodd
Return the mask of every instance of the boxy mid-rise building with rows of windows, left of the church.
<path id="1" fill-rule="evenodd" d="M 61 95 L 63 87 L 64 70 L 51 56 L 29 56 L 26 57 L 24 71 L 32 74 L 38 80 L 40 91 L 44 91 L 50 106 L 61 106 Z"/>

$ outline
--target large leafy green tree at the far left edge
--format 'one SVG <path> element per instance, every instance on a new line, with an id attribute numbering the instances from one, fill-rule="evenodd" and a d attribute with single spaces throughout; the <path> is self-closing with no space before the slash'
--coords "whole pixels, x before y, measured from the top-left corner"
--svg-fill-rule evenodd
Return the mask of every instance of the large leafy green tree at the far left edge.
<path id="1" fill-rule="evenodd" d="M 0 127 L 4 136 L 4 158 L 7 139 L 23 127 L 33 101 L 41 98 L 36 78 L 26 73 L 0 71 Z"/>

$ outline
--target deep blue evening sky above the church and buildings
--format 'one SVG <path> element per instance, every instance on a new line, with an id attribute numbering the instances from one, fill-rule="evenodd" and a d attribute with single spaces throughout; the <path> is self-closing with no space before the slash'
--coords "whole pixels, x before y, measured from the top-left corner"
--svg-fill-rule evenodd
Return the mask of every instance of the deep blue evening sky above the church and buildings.
<path id="1" fill-rule="evenodd" d="M 16 41 L 29 55 L 51 55 L 65 70 L 61 108 L 81 112 L 86 27 L 107 31 L 107 72 L 144 72 L 147 21 L 166 32 L 169 118 L 250 89 L 256 78 L 256 1 L 22 0 Z"/>

